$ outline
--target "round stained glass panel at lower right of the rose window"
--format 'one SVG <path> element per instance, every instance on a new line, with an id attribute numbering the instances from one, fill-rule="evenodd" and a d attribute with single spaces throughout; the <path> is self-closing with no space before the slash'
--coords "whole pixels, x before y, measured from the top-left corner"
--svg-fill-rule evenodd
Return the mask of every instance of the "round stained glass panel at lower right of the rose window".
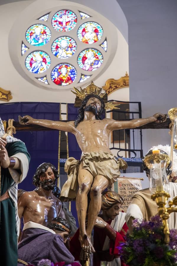
<path id="1" fill-rule="evenodd" d="M 79 53 L 77 63 L 81 69 L 94 71 L 103 64 L 103 55 L 96 49 L 85 49 Z"/>

